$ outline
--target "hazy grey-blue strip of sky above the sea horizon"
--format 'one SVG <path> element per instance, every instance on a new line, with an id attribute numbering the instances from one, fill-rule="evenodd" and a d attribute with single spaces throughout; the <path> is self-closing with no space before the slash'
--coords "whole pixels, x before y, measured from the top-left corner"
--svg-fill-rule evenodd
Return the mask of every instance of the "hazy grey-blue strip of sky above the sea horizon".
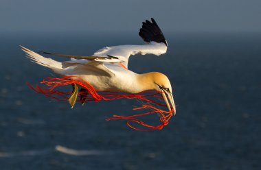
<path id="1" fill-rule="evenodd" d="M 1 0 L 0 32 L 260 32 L 260 0 Z"/>

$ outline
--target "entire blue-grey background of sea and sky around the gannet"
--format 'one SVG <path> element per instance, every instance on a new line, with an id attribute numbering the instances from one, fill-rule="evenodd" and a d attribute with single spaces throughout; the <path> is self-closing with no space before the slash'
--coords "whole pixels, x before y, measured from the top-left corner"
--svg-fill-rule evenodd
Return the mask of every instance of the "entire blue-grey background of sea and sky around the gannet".
<path id="1" fill-rule="evenodd" d="M 219 2 L 1 1 L 1 169 L 260 169 L 260 2 Z M 126 99 L 70 109 L 26 85 L 52 71 L 30 62 L 19 45 L 89 55 L 142 44 L 137 31 L 150 16 L 168 53 L 133 56 L 129 69 L 170 78 L 177 115 L 163 130 L 105 121 L 132 112 Z"/>

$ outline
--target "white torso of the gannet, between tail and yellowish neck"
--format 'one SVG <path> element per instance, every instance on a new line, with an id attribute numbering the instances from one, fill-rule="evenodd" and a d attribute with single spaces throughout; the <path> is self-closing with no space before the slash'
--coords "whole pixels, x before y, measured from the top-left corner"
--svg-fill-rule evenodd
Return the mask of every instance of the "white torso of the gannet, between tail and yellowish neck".
<path id="1" fill-rule="evenodd" d="M 137 73 L 126 70 L 122 66 L 106 65 L 94 67 L 89 64 L 76 64 L 68 68 L 69 73 L 66 73 L 66 71 L 65 74 L 62 74 L 76 75 L 76 77 L 89 82 L 98 91 L 120 91 L 125 93 L 139 93 L 142 91 L 139 88 L 135 88 L 139 87 L 137 86 Z M 110 67 L 113 67 L 113 69 L 110 69 Z"/>

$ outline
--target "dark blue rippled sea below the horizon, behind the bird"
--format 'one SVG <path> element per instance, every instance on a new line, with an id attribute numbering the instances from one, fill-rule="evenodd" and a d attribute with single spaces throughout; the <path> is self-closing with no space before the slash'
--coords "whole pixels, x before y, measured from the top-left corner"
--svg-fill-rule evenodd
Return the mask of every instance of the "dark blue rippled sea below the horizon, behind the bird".
<path id="1" fill-rule="evenodd" d="M 163 130 L 137 132 L 126 121 L 105 120 L 131 114 L 132 101 L 71 109 L 28 88 L 52 71 L 19 47 L 88 56 L 142 44 L 136 34 L 1 35 L 0 169 L 261 169 L 261 34 L 166 37 L 168 53 L 133 56 L 129 69 L 165 73 L 177 114 Z"/>

